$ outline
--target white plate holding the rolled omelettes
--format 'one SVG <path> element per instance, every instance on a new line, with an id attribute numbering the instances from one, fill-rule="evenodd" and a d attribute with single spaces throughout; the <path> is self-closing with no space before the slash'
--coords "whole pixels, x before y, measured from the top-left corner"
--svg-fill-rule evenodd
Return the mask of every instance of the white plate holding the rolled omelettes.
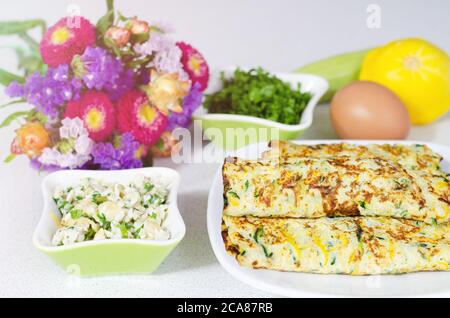
<path id="1" fill-rule="evenodd" d="M 361 140 L 301 140 L 297 144 L 425 144 L 444 157 L 442 169 L 450 172 L 450 147 L 419 141 L 361 141 Z M 238 150 L 234 155 L 255 159 L 266 144 L 254 144 Z M 220 264 L 235 278 L 269 293 L 287 297 L 449 297 L 450 272 L 419 272 L 402 275 L 349 276 L 278 272 L 239 266 L 227 254 L 221 236 L 223 210 L 222 167 L 217 171 L 208 197 L 208 234 Z"/>

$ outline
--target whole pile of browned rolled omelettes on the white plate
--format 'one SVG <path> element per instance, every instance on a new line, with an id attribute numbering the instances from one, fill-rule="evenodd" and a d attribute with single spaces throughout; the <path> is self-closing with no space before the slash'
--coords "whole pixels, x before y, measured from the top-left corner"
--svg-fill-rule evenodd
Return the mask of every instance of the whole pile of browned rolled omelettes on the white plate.
<path id="1" fill-rule="evenodd" d="M 222 237 L 252 268 L 352 275 L 448 270 L 450 185 L 423 145 L 296 145 L 223 166 Z"/>

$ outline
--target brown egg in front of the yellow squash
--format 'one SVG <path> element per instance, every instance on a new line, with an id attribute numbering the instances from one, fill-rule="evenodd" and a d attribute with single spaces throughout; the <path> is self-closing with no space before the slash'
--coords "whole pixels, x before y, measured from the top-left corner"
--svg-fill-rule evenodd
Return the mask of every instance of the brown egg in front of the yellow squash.
<path id="1" fill-rule="evenodd" d="M 410 119 L 402 101 L 388 88 L 357 81 L 331 101 L 331 120 L 343 139 L 404 139 Z"/>

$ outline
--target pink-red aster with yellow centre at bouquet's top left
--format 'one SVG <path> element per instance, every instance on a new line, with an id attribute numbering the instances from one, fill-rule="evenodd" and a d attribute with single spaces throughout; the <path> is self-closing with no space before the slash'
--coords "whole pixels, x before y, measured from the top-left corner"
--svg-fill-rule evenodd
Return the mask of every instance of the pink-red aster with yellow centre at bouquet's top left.
<path id="1" fill-rule="evenodd" d="M 86 47 L 95 43 L 95 27 L 83 17 L 65 17 L 45 32 L 41 55 L 45 64 L 56 67 L 68 64 Z"/>

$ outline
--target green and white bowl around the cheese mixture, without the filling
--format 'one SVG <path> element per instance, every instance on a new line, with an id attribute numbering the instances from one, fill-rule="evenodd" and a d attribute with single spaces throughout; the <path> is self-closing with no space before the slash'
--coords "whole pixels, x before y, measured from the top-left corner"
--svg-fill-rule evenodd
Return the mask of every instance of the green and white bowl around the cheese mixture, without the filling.
<path id="1" fill-rule="evenodd" d="M 52 200 L 57 186 L 69 186 L 90 177 L 107 182 L 128 183 L 136 175 L 158 176 L 169 183 L 169 211 L 165 225 L 171 233 L 167 241 L 109 239 L 68 246 L 52 246 L 60 213 Z M 66 170 L 49 174 L 42 182 L 44 209 L 33 235 L 34 245 L 71 274 L 83 276 L 152 273 L 183 239 L 186 228 L 177 207 L 179 174 L 168 168 L 142 168 L 120 171 Z"/>

